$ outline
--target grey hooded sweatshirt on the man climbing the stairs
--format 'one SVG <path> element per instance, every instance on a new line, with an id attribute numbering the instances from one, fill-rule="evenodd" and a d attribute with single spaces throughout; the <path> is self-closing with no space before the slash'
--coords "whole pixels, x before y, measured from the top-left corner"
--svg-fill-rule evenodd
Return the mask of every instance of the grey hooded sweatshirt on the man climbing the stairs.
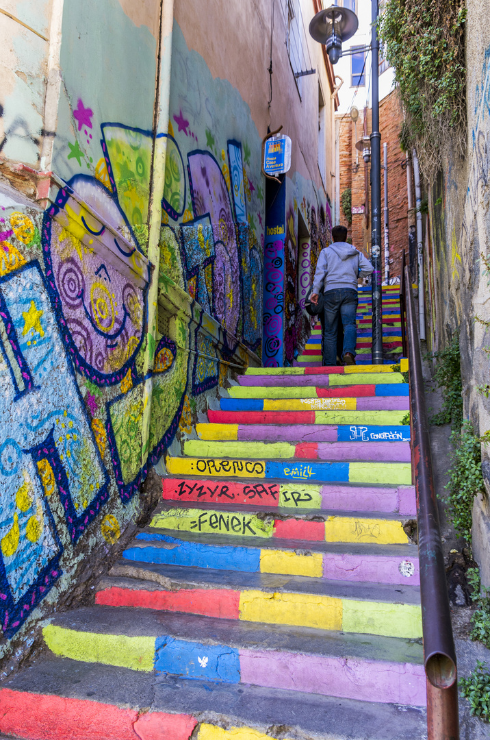
<path id="1" fill-rule="evenodd" d="M 321 286 L 324 292 L 336 288 L 357 290 L 358 277 L 371 275 L 373 269 L 370 261 L 355 246 L 347 241 L 334 241 L 320 252 L 311 292 L 319 293 Z"/>

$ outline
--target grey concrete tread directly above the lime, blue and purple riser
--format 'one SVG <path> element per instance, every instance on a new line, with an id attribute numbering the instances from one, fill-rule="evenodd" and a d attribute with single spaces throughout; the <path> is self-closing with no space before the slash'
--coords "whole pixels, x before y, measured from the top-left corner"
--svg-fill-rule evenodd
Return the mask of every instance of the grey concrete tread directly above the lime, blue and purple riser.
<path id="1" fill-rule="evenodd" d="M 304 655 L 344 656 L 416 665 L 423 663 L 423 649 L 419 640 L 290 625 L 274 625 L 272 629 L 260 622 L 135 607 L 82 607 L 55 615 L 51 624 L 97 634 L 169 636 L 208 645 L 285 650 Z"/>

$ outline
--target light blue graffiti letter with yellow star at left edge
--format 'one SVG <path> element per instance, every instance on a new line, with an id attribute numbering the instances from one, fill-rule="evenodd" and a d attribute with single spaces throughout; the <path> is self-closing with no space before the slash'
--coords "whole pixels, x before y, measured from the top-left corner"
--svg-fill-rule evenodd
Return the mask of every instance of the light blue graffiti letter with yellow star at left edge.
<path id="1" fill-rule="evenodd" d="M 1 278 L 0 323 L 0 613 L 9 636 L 61 575 L 50 497 L 75 543 L 107 501 L 109 477 L 37 261 Z"/>

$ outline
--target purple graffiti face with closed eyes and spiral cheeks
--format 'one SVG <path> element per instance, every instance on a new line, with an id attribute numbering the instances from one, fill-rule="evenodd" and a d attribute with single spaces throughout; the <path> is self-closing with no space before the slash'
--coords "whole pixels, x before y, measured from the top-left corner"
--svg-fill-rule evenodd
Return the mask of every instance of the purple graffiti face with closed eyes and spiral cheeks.
<path id="1" fill-rule="evenodd" d="M 123 212 L 95 178 L 77 175 L 47 212 L 43 240 L 75 365 L 94 383 L 117 383 L 140 349 L 149 277 Z"/>

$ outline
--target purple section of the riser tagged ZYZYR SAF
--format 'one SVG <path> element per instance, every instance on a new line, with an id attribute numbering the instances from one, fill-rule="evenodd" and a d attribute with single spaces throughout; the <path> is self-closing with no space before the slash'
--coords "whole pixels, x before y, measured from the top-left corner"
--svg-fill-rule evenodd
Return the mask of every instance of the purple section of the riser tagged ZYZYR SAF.
<path id="1" fill-rule="evenodd" d="M 382 511 L 415 517 L 415 487 L 324 485 L 321 489 L 321 508 L 333 511 Z"/>

